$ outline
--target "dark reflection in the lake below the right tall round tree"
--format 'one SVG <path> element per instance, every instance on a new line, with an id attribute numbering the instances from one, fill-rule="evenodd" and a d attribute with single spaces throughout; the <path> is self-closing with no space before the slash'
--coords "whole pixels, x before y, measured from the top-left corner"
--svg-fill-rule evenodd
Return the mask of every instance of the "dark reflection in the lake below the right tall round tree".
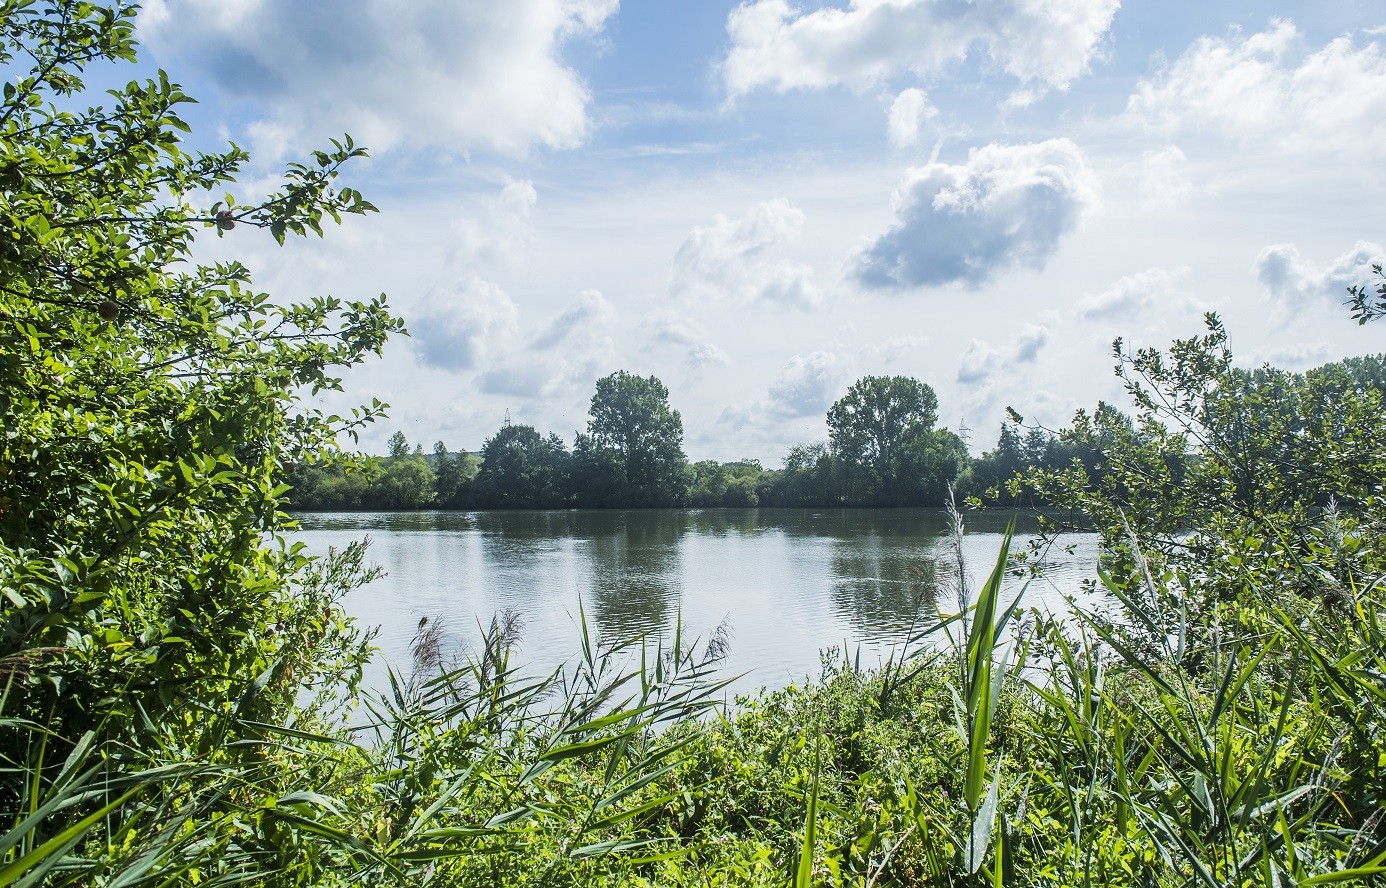
<path id="1" fill-rule="evenodd" d="M 904 640 L 937 614 L 933 546 L 868 536 L 833 547 L 833 605 L 865 637 Z"/>

